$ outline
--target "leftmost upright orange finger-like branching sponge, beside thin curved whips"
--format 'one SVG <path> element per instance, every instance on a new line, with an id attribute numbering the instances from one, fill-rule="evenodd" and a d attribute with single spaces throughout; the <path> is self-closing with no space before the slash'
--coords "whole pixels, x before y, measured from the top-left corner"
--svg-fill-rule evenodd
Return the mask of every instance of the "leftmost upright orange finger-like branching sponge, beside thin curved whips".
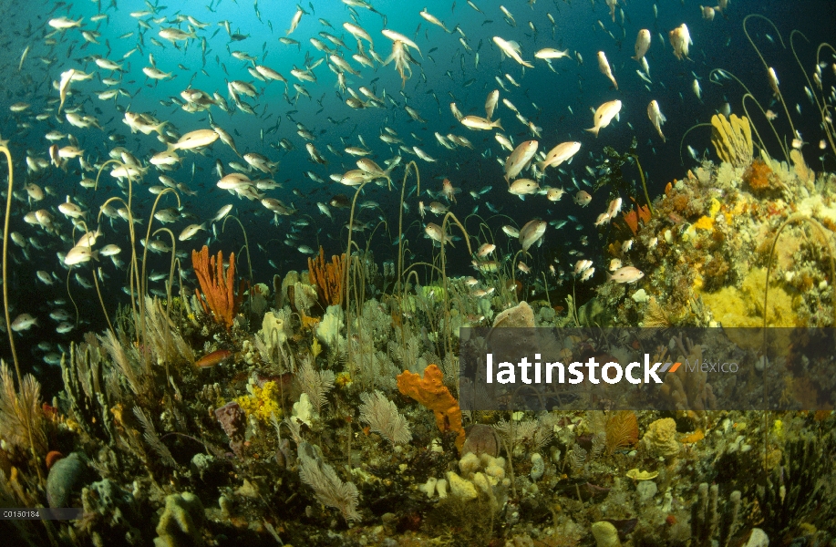
<path id="1" fill-rule="evenodd" d="M 230 265 L 224 272 L 223 252 L 218 251 L 217 257 L 210 258 L 209 247 L 203 245 L 200 252 L 191 252 L 191 265 L 201 284 L 194 293 L 203 312 L 230 329 L 243 299 L 243 287 L 235 293 L 235 253 L 230 253 Z"/>

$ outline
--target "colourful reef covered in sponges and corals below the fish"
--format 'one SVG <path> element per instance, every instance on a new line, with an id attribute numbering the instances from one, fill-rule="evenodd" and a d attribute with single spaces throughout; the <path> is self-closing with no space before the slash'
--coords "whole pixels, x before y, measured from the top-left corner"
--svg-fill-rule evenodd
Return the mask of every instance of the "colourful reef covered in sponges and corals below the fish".
<path id="1" fill-rule="evenodd" d="M 831 409 L 717 409 L 721 388 L 737 381 L 748 403 L 761 379 L 801 408 L 832 393 L 831 376 L 805 381 L 766 359 L 755 380 L 683 367 L 635 392 L 653 391 L 664 410 L 615 410 L 609 394 L 578 396 L 589 408 L 574 410 L 543 397 L 537 412 L 457 398 L 464 327 L 531 348 L 519 327 L 604 338 L 605 326 L 832 325 L 836 177 L 791 152 L 754 159 L 747 127 L 717 117 L 722 161 L 602 232 L 607 260 L 644 274 L 631 284 L 548 271 L 531 281 L 510 261 L 474 277 L 437 262 L 398 278 L 371 253 L 325 263 L 320 248 L 308 272 L 274 278 L 274 294 L 235 292 L 234 258 L 224 268 L 204 247 L 198 296 L 142 298 L 141 315 L 71 344 L 48 405 L 34 378 L 15 388 L 0 368 L 0 501 L 84 508 L 55 529 L 20 525 L 41 544 L 55 531 L 62 545 L 832 542 Z M 622 357 L 614 340 L 594 354 L 572 336 L 560 343 L 562 356 Z M 710 351 L 668 335 L 648 354 L 697 363 Z M 798 369 L 824 358 L 797 357 Z"/>

